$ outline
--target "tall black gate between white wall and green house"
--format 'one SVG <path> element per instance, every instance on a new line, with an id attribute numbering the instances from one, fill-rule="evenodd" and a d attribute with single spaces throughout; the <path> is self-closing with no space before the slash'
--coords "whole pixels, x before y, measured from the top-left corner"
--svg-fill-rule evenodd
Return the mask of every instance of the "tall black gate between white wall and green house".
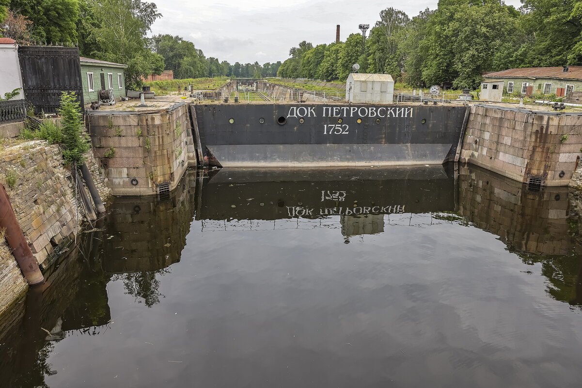
<path id="1" fill-rule="evenodd" d="M 79 48 L 20 46 L 18 58 L 24 98 L 34 106 L 34 113 L 56 113 L 63 91 L 74 91 L 83 104 L 83 81 Z"/>

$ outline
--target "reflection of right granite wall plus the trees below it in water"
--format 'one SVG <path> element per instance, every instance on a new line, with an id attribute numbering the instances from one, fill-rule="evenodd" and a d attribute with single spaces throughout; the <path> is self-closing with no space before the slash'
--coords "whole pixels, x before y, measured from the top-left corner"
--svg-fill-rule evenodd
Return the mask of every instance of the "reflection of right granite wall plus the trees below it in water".
<path id="1" fill-rule="evenodd" d="M 524 263 L 541 264 L 553 298 L 582 305 L 582 245 L 569 207 L 567 187 L 535 192 L 480 168 L 459 169 L 459 213 L 499 236 Z"/>

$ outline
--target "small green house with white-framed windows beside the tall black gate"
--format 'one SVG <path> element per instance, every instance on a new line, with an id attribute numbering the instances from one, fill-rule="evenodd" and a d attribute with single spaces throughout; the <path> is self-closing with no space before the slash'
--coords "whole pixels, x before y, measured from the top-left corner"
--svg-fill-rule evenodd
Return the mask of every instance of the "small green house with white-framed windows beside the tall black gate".
<path id="1" fill-rule="evenodd" d="M 111 90 L 115 101 L 125 97 L 125 74 L 127 65 L 105 60 L 80 57 L 83 99 L 86 105 L 100 101 L 100 90 Z M 104 94 L 104 92 L 102 92 Z M 103 95 L 102 95 L 103 97 Z M 104 99 L 101 99 L 104 101 Z M 106 100 L 107 101 L 107 100 Z"/>

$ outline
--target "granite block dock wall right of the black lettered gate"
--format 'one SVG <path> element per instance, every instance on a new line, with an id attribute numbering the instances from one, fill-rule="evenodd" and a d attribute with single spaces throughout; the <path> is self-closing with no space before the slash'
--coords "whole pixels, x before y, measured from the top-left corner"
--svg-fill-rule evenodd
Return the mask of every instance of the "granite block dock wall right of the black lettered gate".
<path id="1" fill-rule="evenodd" d="M 491 105 L 470 109 L 461 162 L 524 183 L 570 183 L 582 156 L 582 115 Z"/>

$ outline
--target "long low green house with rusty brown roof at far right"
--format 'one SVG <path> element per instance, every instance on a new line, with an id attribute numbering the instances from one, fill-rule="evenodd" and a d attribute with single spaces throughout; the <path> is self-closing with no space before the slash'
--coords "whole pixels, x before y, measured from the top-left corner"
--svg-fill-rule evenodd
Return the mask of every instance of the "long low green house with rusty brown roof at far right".
<path id="1" fill-rule="evenodd" d="M 555 94 L 582 91 L 582 66 L 523 67 L 483 74 L 485 81 L 502 80 L 508 93 Z"/>

